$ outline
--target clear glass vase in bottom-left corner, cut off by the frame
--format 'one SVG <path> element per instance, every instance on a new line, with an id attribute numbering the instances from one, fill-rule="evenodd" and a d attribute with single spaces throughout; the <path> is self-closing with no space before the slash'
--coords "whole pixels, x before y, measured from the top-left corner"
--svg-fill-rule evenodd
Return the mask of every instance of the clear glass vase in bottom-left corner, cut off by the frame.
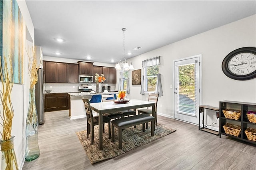
<path id="1" fill-rule="evenodd" d="M 16 154 L 13 144 L 14 136 L 8 140 L 0 140 L 1 144 L 1 170 L 18 170 Z"/>

